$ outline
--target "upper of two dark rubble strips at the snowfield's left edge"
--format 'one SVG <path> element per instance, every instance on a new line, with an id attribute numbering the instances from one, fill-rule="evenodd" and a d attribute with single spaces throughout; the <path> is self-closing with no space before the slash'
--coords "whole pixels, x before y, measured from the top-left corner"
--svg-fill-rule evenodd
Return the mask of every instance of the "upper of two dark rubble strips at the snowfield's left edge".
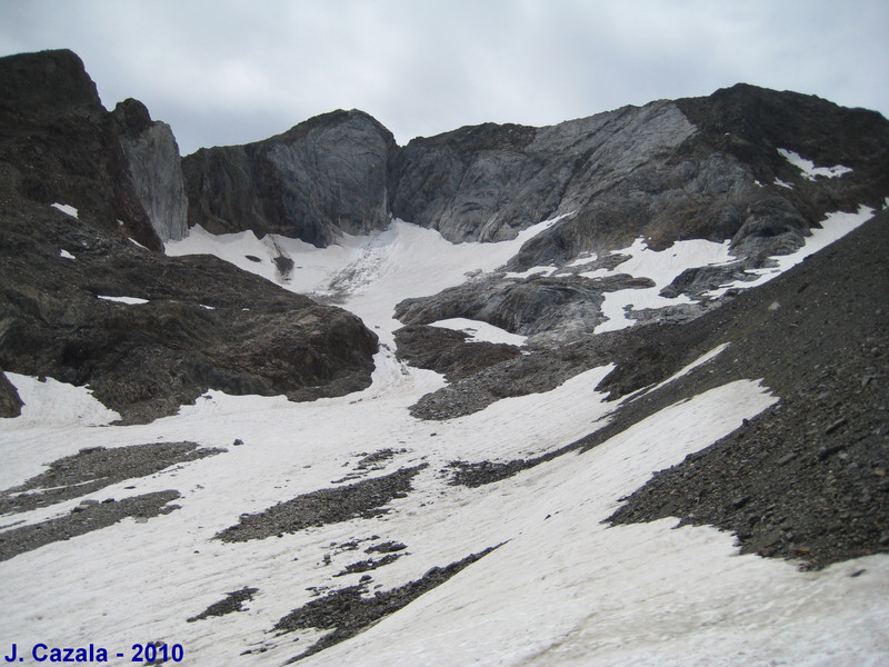
<path id="1" fill-rule="evenodd" d="M 176 464 L 226 451 L 198 447 L 197 442 L 149 442 L 114 449 L 81 449 L 53 461 L 49 470 L 24 484 L 0 491 L 0 515 L 47 507 L 92 494 L 124 479 L 146 477 Z"/>

